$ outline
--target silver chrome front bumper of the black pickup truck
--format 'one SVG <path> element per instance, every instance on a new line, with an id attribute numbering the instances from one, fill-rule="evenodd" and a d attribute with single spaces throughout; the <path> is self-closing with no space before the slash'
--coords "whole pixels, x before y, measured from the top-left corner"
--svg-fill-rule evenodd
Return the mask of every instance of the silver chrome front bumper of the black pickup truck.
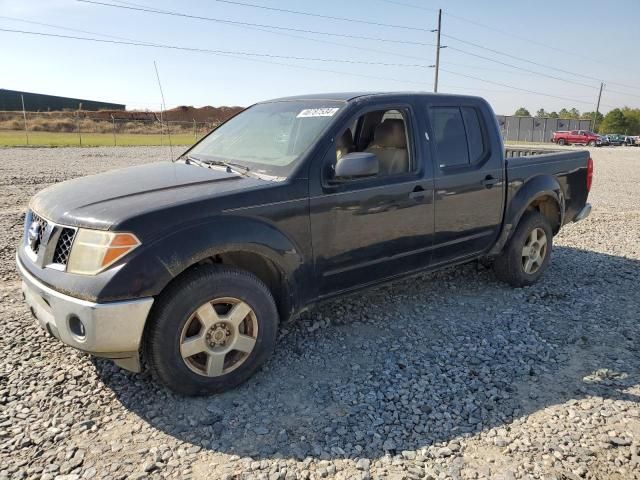
<path id="1" fill-rule="evenodd" d="M 140 370 L 140 340 L 153 298 L 88 302 L 44 285 L 19 258 L 17 265 L 24 299 L 43 329 L 78 350 L 111 358 L 128 370 Z"/>

